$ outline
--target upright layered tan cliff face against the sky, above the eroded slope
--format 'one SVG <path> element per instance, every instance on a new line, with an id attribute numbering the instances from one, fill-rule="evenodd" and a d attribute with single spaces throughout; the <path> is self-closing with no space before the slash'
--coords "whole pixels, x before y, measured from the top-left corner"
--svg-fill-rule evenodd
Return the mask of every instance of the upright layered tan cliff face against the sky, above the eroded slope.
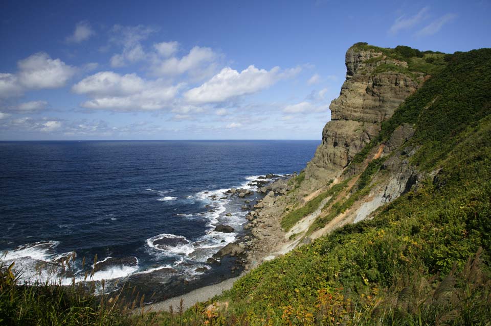
<path id="1" fill-rule="evenodd" d="M 331 121 L 324 127 L 322 144 L 305 169 L 306 179 L 336 177 L 378 134 L 380 123 L 392 116 L 422 81 L 422 74 L 408 76 L 400 72 L 408 66 L 406 61 L 356 44 L 346 52 L 345 62 L 346 81 L 329 107 Z"/>

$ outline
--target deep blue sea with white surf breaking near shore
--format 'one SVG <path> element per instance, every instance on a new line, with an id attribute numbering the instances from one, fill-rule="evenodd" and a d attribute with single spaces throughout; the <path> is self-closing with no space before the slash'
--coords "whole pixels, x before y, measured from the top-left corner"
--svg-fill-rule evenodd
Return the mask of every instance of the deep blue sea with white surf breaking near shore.
<path id="1" fill-rule="evenodd" d="M 25 279 L 76 253 L 93 280 L 163 267 L 186 279 L 243 232 L 260 175 L 302 170 L 320 141 L 0 142 L 0 252 Z M 226 216 L 231 213 L 232 216 Z M 213 231 L 230 225 L 233 233 Z M 161 241 L 156 241 L 161 240 Z M 91 262 L 82 266 L 85 257 Z M 110 262 L 110 263 L 109 263 Z M 68 282 L 70 280 L 67 280 Z"/>

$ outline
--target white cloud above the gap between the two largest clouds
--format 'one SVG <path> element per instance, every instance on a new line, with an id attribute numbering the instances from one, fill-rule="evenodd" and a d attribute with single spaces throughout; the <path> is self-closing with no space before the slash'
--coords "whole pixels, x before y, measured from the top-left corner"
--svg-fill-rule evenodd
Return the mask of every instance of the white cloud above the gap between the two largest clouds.
<path id="1" fill-rule="evenodd" d="M 181 59 L 172 57 L 163 61 L 157 60 L 153 64 L 152 72 L 157 76 L 182 74 L 202 68 L 204 64 L 213 62 L 216 57 L 211 48 L 195 46 Z"/>

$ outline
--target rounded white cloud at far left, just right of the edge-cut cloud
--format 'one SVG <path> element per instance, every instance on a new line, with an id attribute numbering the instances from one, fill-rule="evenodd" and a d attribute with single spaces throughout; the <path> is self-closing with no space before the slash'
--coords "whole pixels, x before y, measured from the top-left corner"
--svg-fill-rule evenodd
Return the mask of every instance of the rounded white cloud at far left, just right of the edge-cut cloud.
<path id="1" fill-rule="evenodd" d="M 27 88 L 63 87 L 76 69 L 60 59 L 51 59 L 46 53 L 36 53 L 17 63 L 19 83 Z"/>

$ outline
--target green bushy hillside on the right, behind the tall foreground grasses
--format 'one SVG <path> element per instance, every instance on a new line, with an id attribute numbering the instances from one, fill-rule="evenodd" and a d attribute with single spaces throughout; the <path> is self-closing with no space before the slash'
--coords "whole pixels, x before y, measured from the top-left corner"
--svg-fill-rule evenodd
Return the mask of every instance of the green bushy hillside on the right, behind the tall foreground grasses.
<path id="1" fill-rule="evenodd" d="M 413 123 L 412 144 L 420 147 L 411 161 L 420 169 L 441 167 L 435 183 L 429 180 L 417 193 L 395 200 L 372 221 L 347 225 L 263 264 L 222 298 L 234 303 L 236 314 L 248 315 L 258 323 L 268 314 L 277 321 L 300 322 L 296 314 L 311 314 L 319 320 L 326 293 L 342 297 L 339 305 L 344 310 L 346 298 L 359 302 L 360 307 L 368 305 L 363 299 L 368 295 L 383 303 L 384 298 L 410 286 L 407 282 L 414 278 L 427 278 L 436 286 L 436 275 L 448 275 L 454 263 L 456 274 L 479 247 L 484 249 L 482 269 L 487 272 L 491 253 L 491 50 L 457 53 L 446 60 L 448 66 L 411 96 L 370 144 L 373 147 L 388 139 L 400 123 Z M 488 291 L 489 285 L 484 288 Z M 430 294 L 428 290 L 431 302 Z M 381 307 L 392 313 L 385 322 L 400 317 L 394 307 Z M 457 323 L 464 323 L 464 315 L 491 319 L 488 301 L 482 299 L 473 307 L 476 311 L 457 309 L 453 318 Z M 440 308 L 418 313 L 432 324 L 441 317 Z M 450 306 L 447 310 L 452 311 Z M 351 311 L 350 316 L 353 314 Z"/>

